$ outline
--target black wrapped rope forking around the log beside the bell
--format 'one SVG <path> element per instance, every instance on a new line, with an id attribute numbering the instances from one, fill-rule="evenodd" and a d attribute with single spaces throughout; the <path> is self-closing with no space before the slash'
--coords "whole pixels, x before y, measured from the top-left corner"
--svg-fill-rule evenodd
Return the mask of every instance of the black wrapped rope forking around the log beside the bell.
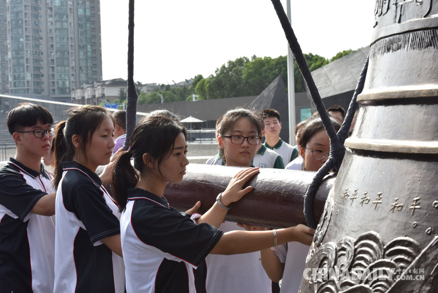
<path id="1" fill-rule="evenodd" d="M 284 12 L 283 6 L 281 5 L 280 0 L 272 0 L 272 3 L 274 5 L 275 12 L 277 13 L 278 19 L 280 20 L 281 26 L 283 27 L 286 39 L 289 42 L 289 47 L 291 48 L 293 57 L 295 58 L 298 68 L 300 69 L 304 81 L 306 82 L 306 86 L 309 89 L 310 97 L 315 103 L 316 110 L 321 117 L 324 128 L 326 129 L 326 132 L 330 139 L 329 158 L 313 177 L 312 182 L 307 189 L 306 195 L 304 195 L 304 217 L 309 227 L 316 228 L 316 223 L 313 219 L 314 197 L 324 176 L 326 176 L 331 169 L 337 172 L 339 170 L 339 167 L 341 166 L 342 160 L 345 155 L 344 141 L 347 137 L 347 132 L 350 128 L 351 121 L 357 107 L 356 97 L 360 92 L 362 92 L 362 89 L 364 87 L 366 70 L 368 68 L 368 58 L 365 60 L 365 65 L 362 69 L 361 78 L 358 85 L 356 86 L 356 90 L 350 102 L 350 107 L 347 111 L 347 117 L 344 120 L 341 129 L 339 130 L 340 133 L 338 137 L 333 128 L 333 125 L 331 124 L 329 114 L 326 111 L 326 107 L 321 99 L 321 96 L 319 95 L 315 82 L 313 81 L 309 66 L 307 65 L 306 59 L 304 58 L 303 52 L 301 51 L 301 47 L 295 37 L 295 33 L 292 30 L 292 26 L 288 20 L 288 17 Z"/>

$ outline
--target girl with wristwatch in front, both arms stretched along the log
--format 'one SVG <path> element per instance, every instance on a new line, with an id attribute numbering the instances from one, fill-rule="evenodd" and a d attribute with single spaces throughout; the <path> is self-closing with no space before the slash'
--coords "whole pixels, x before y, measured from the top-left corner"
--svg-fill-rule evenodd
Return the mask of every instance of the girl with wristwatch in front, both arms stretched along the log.
<path id="1" fill-rule="evenodd" d="M 247 253 L 291 240 L 311 242 L 313 230 L 303 225 L 275 232 L 223 233 L 217 228 L 227 206 L 252 190 L 251 186 L 242 187 L 258 168 L 238 172 L 209 211 L 192 216 L 199 217 L 195 220 L 198 224 L 169 207 L 164 188 L 167 182 L 183 179 L 186 152 L 186 131 L 181 123 L 148 116 L 135 127 L 130 150 L 116 160 L 112 182 L 123 211 L 120 226 L 128 293 L 205 292 L 205 279 L 195 278 L 194 270 L 209 253 Z"/>

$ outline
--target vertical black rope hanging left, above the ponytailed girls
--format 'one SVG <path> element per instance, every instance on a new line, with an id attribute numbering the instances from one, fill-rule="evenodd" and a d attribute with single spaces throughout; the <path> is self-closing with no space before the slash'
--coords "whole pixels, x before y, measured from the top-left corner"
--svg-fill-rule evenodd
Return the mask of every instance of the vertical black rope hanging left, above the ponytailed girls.
<path id="1" fill-rule="evenodd" d="M 126 102 L 126 138 L 123 150 L 129 148 L 132 132 L 134 131 L 137 115 L 137 90 L 134 83 L 134 0 L 129 0 L 128 20 L 128 87 Z"/>

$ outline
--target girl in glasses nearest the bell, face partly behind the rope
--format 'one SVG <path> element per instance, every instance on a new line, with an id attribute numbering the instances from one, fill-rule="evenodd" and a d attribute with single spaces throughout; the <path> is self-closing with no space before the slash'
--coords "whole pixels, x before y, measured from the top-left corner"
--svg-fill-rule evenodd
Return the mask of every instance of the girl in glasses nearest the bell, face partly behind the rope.
<path id="1" fill-rule="evenodd" d="M 330 118 L 333 128 L 337 132 L 341 126 Z M 301 170 L 318 171 L 327 161 L 330 152 L 329 136 L 324 129 L 320 117 L 310 118 L 301 130 L 300 156 L 303 158 Z M 274 281 L 281 282 L 281 293 L 297 292 L 306 265 L 309 246 L 288 242 L 271 249 L 260 251 L 260 259 L 266 273 Z"/>

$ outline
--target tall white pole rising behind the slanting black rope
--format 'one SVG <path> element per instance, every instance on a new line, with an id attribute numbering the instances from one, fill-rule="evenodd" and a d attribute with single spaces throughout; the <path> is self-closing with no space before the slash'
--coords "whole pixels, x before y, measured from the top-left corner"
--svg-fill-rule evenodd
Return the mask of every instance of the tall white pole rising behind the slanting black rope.
<path id="1" fill-rule="evenodd" d="M 287 0 L 286 5 L 289 22 L 291 22 L 291 0 Z M 293 55 L 288 44 L 288 100 L 289 100 L 289 143 L 296 144 L 295 141 L 295 81 L 293 79 Z"/>

